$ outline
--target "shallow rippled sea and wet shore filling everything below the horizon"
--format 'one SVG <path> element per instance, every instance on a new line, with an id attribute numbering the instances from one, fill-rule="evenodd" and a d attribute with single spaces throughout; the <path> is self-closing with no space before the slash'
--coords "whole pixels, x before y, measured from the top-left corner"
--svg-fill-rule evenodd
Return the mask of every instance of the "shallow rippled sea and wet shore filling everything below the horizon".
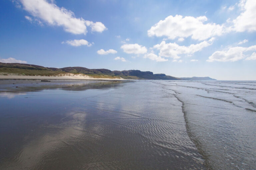
<path id="1" fill-rule="evenodd" d="M 256 169 L 256 81 L 0 81 L 0 169 Z"/>

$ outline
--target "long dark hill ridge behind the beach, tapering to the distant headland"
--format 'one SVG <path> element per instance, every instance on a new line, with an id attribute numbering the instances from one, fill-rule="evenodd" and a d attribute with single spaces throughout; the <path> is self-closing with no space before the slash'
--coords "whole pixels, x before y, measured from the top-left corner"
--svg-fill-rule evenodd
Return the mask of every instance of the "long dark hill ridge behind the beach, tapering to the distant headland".
<path id="1" fill-rule="evenodd" d="M 53 68 L 33 64 L 1 63 L 1 73 L 15 73 L 20 75 L 56 76 L 65 73 L 82 73 L 95 78 L 146 79 L 146 80 L 215 80 L 210 77 L 177 78 L 165 74 L 153 74 L 151 71 L 123 70 L 111 71 L 108 69 L 89 69 L 85 67 Z"/>

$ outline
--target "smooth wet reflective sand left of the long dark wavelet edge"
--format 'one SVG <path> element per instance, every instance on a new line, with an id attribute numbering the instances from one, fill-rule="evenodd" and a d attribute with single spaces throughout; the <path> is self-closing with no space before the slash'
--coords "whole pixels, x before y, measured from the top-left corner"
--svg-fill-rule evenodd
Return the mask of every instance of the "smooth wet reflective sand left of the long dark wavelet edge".
<path id="1" fill-rule="evenodd" d="M 206 169 L 157 84 L 19 81 L 0 85 L 0 169 Z"/>

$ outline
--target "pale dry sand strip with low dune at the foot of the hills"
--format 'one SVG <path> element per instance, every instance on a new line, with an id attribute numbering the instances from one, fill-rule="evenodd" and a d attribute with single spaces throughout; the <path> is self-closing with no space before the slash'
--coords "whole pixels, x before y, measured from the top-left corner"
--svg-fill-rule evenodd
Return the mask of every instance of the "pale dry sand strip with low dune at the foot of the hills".
<path id="1" fill-rule="evenodd" d="M 42 79 L 42 80 L 124 80 L 120 78 L 93 78 L 84 74 L 65 74 L 59 76 L 26 76 L 26 75 L 17 75 L 10 74 L 4 75 L 0 74 L 0 79 Z"/>

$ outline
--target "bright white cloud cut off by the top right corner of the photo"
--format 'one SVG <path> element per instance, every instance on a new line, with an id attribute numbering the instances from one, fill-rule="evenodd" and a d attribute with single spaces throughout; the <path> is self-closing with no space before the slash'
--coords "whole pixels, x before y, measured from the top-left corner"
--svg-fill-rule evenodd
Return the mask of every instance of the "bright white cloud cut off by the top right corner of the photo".
<path id="1" fill-rule="evenodd" d="M 242 13 L 233 20 L 233 29 L 237 32 L 256 31 L 256 1 L 241 0 L 238 6 Z"/>

